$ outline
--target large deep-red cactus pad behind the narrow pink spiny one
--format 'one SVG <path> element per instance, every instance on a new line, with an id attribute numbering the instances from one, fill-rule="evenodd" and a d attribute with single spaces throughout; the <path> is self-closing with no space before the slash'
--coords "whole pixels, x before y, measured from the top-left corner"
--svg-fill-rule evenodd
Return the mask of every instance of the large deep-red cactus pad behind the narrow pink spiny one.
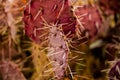
<path id="1" fill-rule="evenodd" d="M 73 17 L 68 0 L 31 0 L 24 11 L 25 32 L 36 43 L 44 41 L 39 38 L 43 33 L 48 32 L 45 24 L 63 24 L 65 34 L 75 33 L 76 20 Z"/>

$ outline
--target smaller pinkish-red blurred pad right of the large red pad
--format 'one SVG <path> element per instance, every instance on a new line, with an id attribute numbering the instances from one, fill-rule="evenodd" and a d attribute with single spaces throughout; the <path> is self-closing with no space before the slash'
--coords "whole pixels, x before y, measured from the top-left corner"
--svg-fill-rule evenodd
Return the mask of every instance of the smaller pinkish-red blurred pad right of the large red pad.
<path id="1" fill-rule="evenodd" d="M 74 10 L 74 14 L 77 18 L 77 25 L 82 27 L 80 28 L 80 31 L 87 31 L 90 38 L 95 37 L 102 23 L 97 8 L 87 5 L 80 6 Z"/>

